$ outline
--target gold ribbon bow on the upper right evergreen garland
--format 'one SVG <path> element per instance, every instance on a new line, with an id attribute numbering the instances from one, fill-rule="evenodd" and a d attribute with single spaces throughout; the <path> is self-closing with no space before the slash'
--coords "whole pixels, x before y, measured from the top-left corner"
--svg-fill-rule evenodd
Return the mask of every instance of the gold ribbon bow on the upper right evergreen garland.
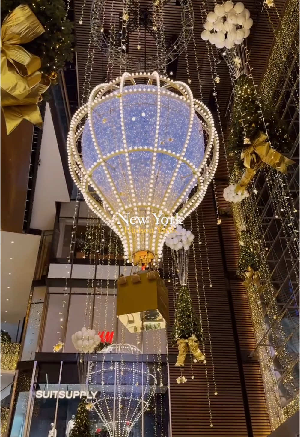
<path id="1" fill-rule="evenodd" d="M 257 170 L 265 164 L 281 173 L 286 173 L 287 166 L 295 163 L 272 149 L 268 137 L 263 132 L 259 132 L 258 137 L 249 147 L 242 149 L 241 160 L 245 167 L 245 172 L 239 182 L 239 185 L 242 187 L 246 187 L 255 176 Z"/>

